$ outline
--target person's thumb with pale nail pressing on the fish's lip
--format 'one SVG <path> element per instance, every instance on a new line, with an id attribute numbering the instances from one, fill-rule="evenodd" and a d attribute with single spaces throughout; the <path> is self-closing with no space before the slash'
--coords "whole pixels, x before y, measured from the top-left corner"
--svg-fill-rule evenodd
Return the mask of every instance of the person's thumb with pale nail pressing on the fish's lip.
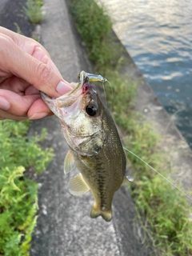
<path id="1" fill-rule="evenodd" d="M 70 84 L 63 80 L 50 58 L 43 51 L 41 53 L 40 47 L 38 54 L 32 56 L 17 46 L 12 39 L 4 37 L 0 56 L 0 66 L 3 66 L 3 70 L 26 80 L 50 97 L 58 97 L 71 90 Z"/>

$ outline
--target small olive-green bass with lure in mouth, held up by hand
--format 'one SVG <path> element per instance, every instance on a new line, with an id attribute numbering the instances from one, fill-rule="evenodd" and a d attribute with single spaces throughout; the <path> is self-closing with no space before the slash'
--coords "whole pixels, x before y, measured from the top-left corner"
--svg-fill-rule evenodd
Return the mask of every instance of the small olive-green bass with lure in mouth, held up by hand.
<path id="1" fill-rule="evenodd" d="M 82 71 L 72 89 L 59 98 L 41 96 L 50 110 L 59 118 L 62 132 L 69 146 L 64 161 L 64 173 L 76 167 L 79 174 L 70 180 L 70 193 L 94 197 L 91 218 L 112 218 L 114 193 L 120 186 L 132 181 L 126 176 L 126 155 L 114 120 L 102 102 L 92 82 L 105 82 L 101 75 Z"/>

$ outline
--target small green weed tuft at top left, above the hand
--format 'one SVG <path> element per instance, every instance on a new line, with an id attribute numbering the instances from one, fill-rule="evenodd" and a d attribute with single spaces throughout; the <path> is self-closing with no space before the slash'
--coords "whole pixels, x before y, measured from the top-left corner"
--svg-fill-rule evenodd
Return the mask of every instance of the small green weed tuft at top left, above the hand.
<path id="1" fill-rule="evenodd" d="M 26 7 L 23 7 L 23 11 L 33 24 L 41 23 L 45 16 L 42 14 L 41 0 L 26 0 Z"/>

